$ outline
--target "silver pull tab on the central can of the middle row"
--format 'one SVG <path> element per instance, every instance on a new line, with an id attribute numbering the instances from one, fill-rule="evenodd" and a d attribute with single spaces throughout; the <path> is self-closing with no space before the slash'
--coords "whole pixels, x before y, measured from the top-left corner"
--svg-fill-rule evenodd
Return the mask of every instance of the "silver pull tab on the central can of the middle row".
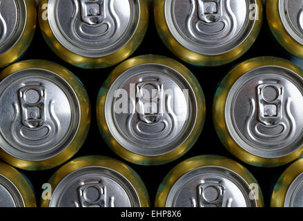
<path id="1" fill-rule="evenodd" d="M 136 85 L 136 93 L 137 111 L 141 122 L 159 122 L 163 117 L 163 84 L 159 81 L 143 81 Z"/>

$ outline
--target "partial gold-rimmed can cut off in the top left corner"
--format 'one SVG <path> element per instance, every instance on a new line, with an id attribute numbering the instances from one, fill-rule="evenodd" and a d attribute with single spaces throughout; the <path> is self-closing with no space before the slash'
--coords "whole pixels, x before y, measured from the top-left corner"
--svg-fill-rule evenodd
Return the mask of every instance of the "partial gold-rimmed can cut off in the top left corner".
<path id="1" fill-rule="evenodd" d="M 37 11 L 34 0 L 0 1 L 0 68 L 17 61 L 30 46 Z"/>

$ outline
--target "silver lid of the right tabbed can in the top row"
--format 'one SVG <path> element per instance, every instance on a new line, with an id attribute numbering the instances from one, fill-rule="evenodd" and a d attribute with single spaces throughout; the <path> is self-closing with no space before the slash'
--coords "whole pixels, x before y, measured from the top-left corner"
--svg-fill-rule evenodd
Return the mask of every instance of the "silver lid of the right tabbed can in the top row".
<path id="1" fill-rule="evenodd" d="M 166 23 L 188 50 L 222 55 L 250 35 L 256 19 L 251 16 L 252 4 L 256 7 L 256 0 L 166 0 Z"/>

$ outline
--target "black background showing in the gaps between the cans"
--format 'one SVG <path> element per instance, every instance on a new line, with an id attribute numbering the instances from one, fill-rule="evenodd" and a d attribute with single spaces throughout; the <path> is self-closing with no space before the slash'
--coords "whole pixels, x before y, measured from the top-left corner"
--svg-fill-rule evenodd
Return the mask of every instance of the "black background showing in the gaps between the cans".
<path id="1" fill-rule="evenodd" d="M 82 81 L 82 83 L 86 87 L 86 90 L 88 90 L 88 95 L 90 96 L 90 102 L 92 106 L 92 123 L 86 142 L 84 143 L 80 151 L 74 157 L 72 157 L 72 159 L 83 155 L 107 155 L 110 157 L 115 157 L 116 159 L 121 160 L 122 162 L 125 162 L 133 169 L 135 169 L 137 173 L 139 173 L 142 180 L 146 184 L 146 188 L 148 189 L 148 193 L 150 196 L 151 206 L 153 206 L 155 202 L 155 195 L 159 184 L 162 182 L 163 178 L 168 173 L 168 171 L 170 171 L 170 169 L 173 169 L 174 166 L 189 157 L 205 154 L 223 155 L 225 157 L 229 157 L 233 160 L 236 160 L 237 162 L 240 162 L 240 164 L 243 164 L 249 171 L 251 171 L 251 173 L 259 182 L 264 195 L 265 204 L 266 206 L 269 206 L 273 186 L 275 185 L 277 178 L 280 177 L 282 172 L 286 169 L 287 166 L 289 166 L 289 164 L 275 168 L 260 168 L 250 166 L 248 164 L 245 164 L 244 162 L 241 162 L 240 160 L 237 160 L 235 157 L 233 157 L 233 155 L 231 155 L 231 153 L 226 150 L 226 148 L 224 148 L 224 146 L 219 141 L 219 138 L 215 133 L 212 118 L 212 105 L 215 90 L 219 82 L 228 73 L 228 71 L 233 68 L 233 66 L 239 64 L 242 61 L 245 61 L 246 59 L 259 56 L 276 56 L 290 59 L 289 55 L 280 46 L 278 46 L 275 39 L 273 39 L 273 36 L 271 35 L 271 32 L 266 23 L 265 14 L 266 13 L 264 10 L 264 20 L 260 35 L 257 38 L 257 41 L 255 41 L 253 47 L 251 47 L 251 49 L 248 50 L 248 52 L 246 52 L 244 56 L 242 56 L 240 59 L 237 59 L 233 63 L 225 66 L 215 68 L 203 68 L 191 66 L 190 64 L 184 63 L 183 61 L 175 57 L 175 55 L 173 55 L 170 50 L 166 48 L 166 46 L 164 46 L 155 28 L 153 13 L 150 13 L 150 23 L 148 31 L 146 33 L 146 37 L 142 42 L 141 46 L 139 46 L 136 52 L 132 55 L 132 57 L 137 55 L 155 54 L 165 55 L 167 57 L 176 59 L 194 73 L 194 75 L 199 80 L 199 83 L 201 84 L 204 90 L 204 95 L 206 97 L 206 123 L 204 125 L 204 130 L 202 131 L 198 142 L 193 146 L 193 148 L 190 149 L 190 151 L 188 151 L 188 153 L 186 153 L 186 155 L 179 158 L 178 160 L 175 160 L 174 162 L 162 166 L 139 166 L 137 164 L 126 162 L 125 160 L 121 159 L 121 157 L 113 153 L 113 151 L 111 151 L 110 148 L 106 145 L 104 140 L 102 140 L 102 137 L 97 128 L 96 121 L 95 110 L 97 95 L 101 84 L 104 82 L 106 77 L 108 77 L 109 73 L 115 68 L 115 66 L 105 69 L 86 70 L 77 68 L 66 63 L 65 61 L 57 57 L 57 55 L 55 55 L 52 50 L 50 50 L 41 35 L 39 26 L 37 26 L 32 45 L 26 52 L 26 55 L 22 57 L 22 60 L 46 59 L 49 61 L 54 61 L 57 64 L 65 66 L 66 68 L 71 70 L 72 73 L 77 75 L 77 77 L 79 77 L 80 81 Z M 55 173 L 57 169 L 59 169 L 59 166 L 55 169 L 50 169 L 48 171 L 22 171 L 22 173 L 24 173 L 29 178 L 35 188 L 38 204 L 39 199 L 41 197 L 41 193 L 43 191 L 41 189 L 42 184 L 48 182 L 51 175 Z"/>

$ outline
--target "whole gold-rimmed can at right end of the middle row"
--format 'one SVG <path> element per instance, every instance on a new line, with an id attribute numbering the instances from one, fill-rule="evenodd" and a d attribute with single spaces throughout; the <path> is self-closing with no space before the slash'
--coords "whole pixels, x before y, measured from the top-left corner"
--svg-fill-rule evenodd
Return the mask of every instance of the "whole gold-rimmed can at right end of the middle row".
<path id="1" fill-rule="evenodd" d="M 277 57 L 257 57 L 223 79 L 213 119 L 228 151 L 254 166 L 280 166 L 303 152 L 303 71 Z"/>

